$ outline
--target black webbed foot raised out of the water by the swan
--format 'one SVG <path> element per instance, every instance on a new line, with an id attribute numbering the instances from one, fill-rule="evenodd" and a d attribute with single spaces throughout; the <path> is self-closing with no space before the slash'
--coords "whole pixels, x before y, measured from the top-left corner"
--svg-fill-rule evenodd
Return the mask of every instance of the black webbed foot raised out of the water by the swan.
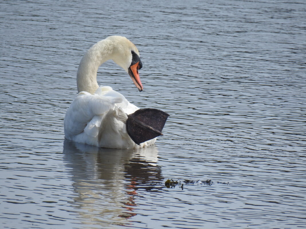
<path id="1" fill-rule="evenodd" d="M 166 112 L 154 108 L 139 109 L 128 115 L 126 130 L 132 140 L 139 145 L 163 135 L 162 128 L 169 116 Z"/>

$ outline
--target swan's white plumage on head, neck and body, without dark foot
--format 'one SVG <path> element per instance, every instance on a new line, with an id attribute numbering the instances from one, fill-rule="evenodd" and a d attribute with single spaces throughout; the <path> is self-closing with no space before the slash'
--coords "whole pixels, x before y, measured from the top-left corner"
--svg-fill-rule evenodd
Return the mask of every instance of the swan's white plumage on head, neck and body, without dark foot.
<path id="1" fill-rule="evenodd" d="M 97 84 L 98 67 L 106 60 L 114 60 L 128 72 L 132 62 L 131 51 L 139 56 L 136 46 L 128 39 L 111 36 L 96 43 L 85 53 L 77 74 L 79 93 L 65 115 L 65 138 L 106 148 L 135 148 L 155 143 L 156 138 L 140 145 L 132 141 L 126 132 L 125 121 L 127 114 L 139 108 L 111 87 L 99 87 Z M 141 82 L 136 86 L 142 89 Z"/>

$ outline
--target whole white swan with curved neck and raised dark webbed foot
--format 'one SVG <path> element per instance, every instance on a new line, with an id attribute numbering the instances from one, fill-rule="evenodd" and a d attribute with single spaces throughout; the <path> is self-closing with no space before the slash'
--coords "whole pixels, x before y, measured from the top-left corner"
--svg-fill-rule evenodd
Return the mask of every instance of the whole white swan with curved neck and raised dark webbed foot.
<path id="1" fill-rule="evenodd" d="M 138 74 L 142 63 L 136 46 L 121 36 L 97 42 L 80 61 L 78 94 L 64 118 L 65 138 L 117 149 L 154 144 L 169 115 L 157 109 L 139 109 L 110 86 L 99 86 L 97 70 L 110 59 L 129 73 L 140 92 L 143 90 Z"/>

